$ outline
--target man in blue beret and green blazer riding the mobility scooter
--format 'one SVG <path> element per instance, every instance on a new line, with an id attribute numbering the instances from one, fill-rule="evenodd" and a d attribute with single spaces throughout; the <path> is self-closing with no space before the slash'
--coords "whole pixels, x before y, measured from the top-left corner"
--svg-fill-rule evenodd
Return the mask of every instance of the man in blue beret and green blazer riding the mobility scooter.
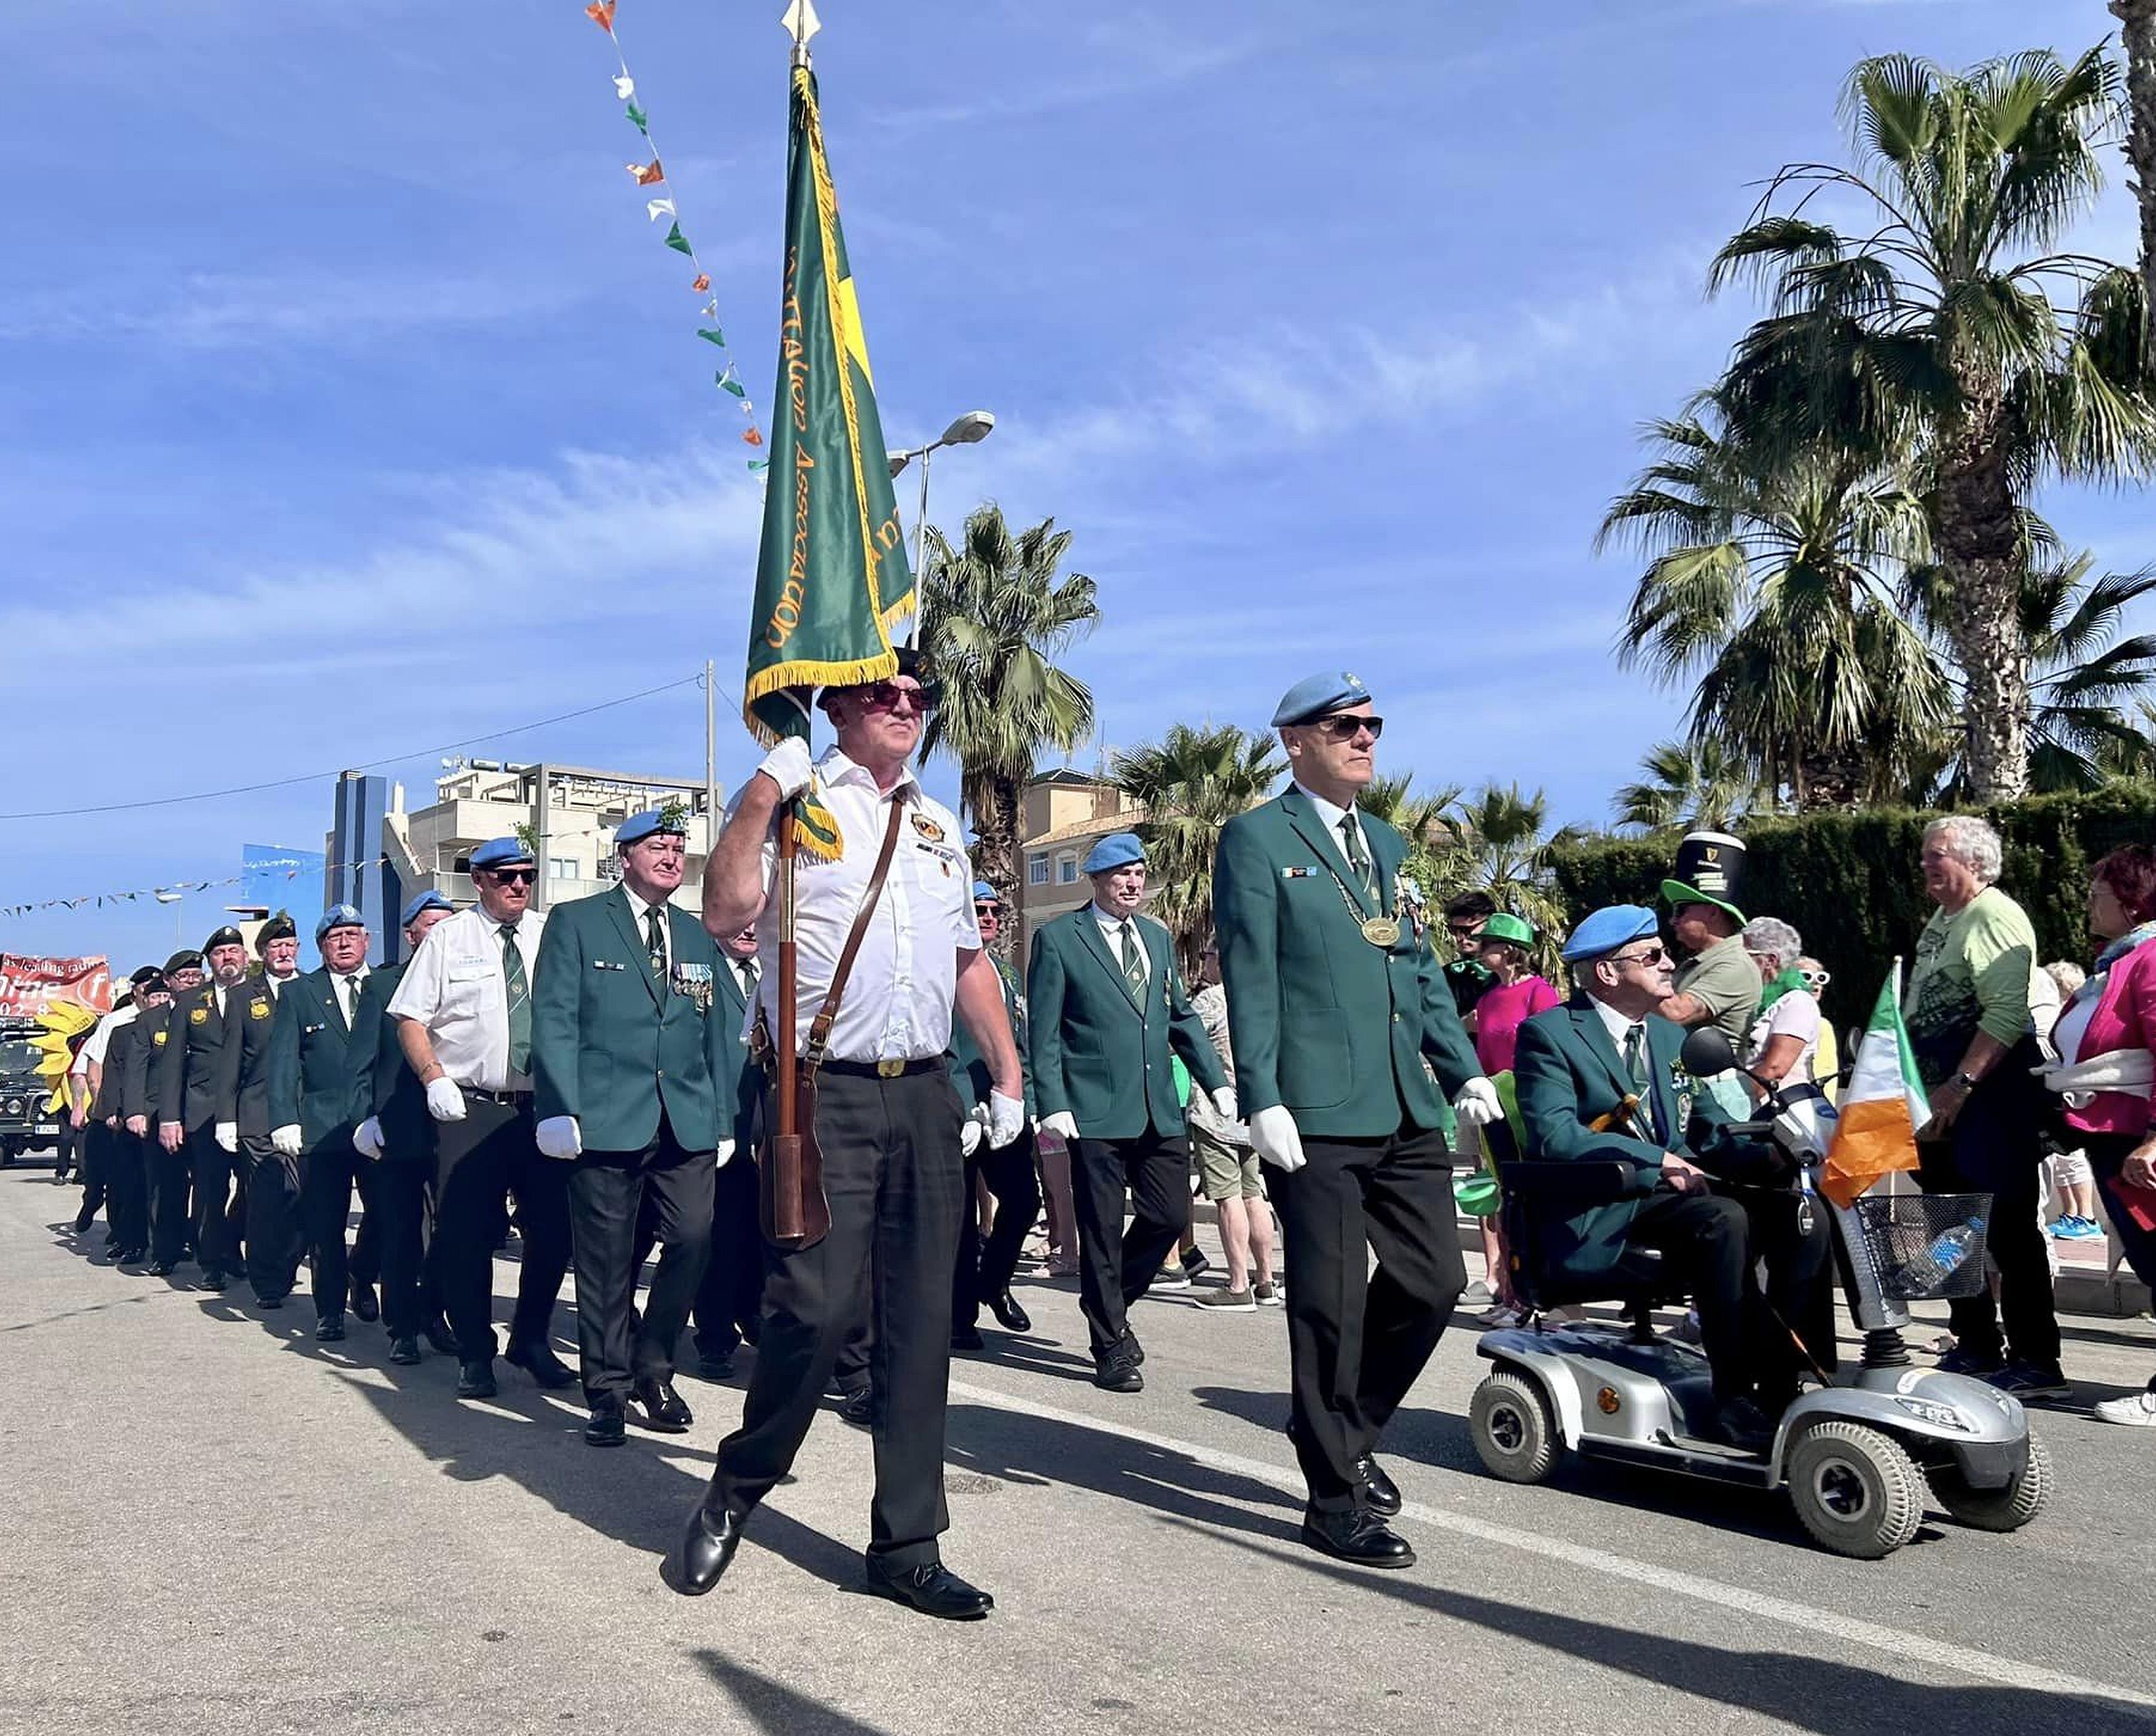
<path id="1" fill-rule="evenodd" d="M 1824 1279 L 1824 1221 L 1783 1188 L 1792 1165 L 1768 1143 L 1731 1132 L 1729 1115 L 1680 1061 L 1684 1029 L 1658 1016 L 1673 994 L 1673 964 L 1651 910 L 1598 910 L 1565 940 L 1578 994 L 1520 1027 L 1514 1061 L 1524 1156 L 1546 1162 L 1634 1165 L 1639 1188 L 1550 1225 L 1544 1255 L 1574 1279 L 1617 1266 L 1628 1249 L 1656 1249 L 1699 1309 L 1701 1348 L 1714 1382 L 1712 1441 L 1764 1451 L 1774 1410 L 1796 1395 L 1798 1350 L 1777 1326 L 1753 1277 L 1766 1253 L 1785 1318 Z M 1740 1203 L 1716 1184 L 1746 1188 Z M 1753 1216 L 1787 1234 L 1755 1240 Z"/>

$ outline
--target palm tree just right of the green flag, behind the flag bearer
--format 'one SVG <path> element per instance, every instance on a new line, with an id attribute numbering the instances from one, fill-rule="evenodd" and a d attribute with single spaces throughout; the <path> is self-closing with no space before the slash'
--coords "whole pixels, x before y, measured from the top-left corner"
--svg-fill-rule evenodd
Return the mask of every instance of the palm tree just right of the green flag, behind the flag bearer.
<path id="1" fill-rule="evenodd" d="M 927 526 L 921 649 L 942 703 L 923 757 L 957 761 L 979 843 L 975 869 L 1018 908 L 1018 800 L 1041 750 L 1069 753 L 1093 733 L 1093 690 L 1052 658 L 1100 621 L 1093 580 L 1056 576 L 1072 533 L 1052 518 L 1015 537 L 994 502 L 966 515 L 959 548 Z"/>

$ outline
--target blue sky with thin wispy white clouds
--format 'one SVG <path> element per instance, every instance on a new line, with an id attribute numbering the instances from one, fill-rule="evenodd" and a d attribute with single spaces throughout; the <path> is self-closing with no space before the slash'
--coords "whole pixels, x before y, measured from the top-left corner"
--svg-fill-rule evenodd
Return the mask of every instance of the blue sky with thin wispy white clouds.
<path id="1" fill-rule="evenodd" d="M 759 399 L 778 11 L 619 11 Z M 1345 666 L 1391 766 L 1578 822 L 1680 709 L 1611 662 L 1634 569 L 1591 539 L 1639 423 L 1753 313 L 1701 295 L 1753 183 L 1841 151 L 1863 54 L 2111 28 L 2100 0 L 821 11 L 884 429 L 996 412 L 931 515 L 1076 531 L 1104 740 L 1257 727 Z M 0 811 L 410 755 L 705 656 L 737 684 L 757 487 L 578 0 L 69 0 L 9 35 Z M 2113 188 L 2081 242 L 2130 237 Z M 2141 498 L 2046 507 L 2104 561 L 2156 554 Z M 703 699 L 474 750 L 694 774 Z M 722 781 L 752 763 L 722 722 Z M 425 800 L 436 761 L 386 770 Z M 323 779 L 0 822 L 0 904 L 235 873 L 328 817 Z M 181 908 L 190 942 L 213 901 Z M 0 947 L 129 966 L 172 925 L 86 906 L 0 919 Z"/>

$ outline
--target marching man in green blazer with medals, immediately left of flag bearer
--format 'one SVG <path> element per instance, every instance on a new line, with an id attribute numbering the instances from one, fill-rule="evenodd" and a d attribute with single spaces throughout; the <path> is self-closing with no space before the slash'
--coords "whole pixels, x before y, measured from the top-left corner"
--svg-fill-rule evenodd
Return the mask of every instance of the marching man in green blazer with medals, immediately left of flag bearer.
<path id="1" fill-rule="evenodd" d="M 550 912 L 533 977 L 537 1141 L 567 1165 L 593 1447 L 621 1445 L 630 1406 L 662 1434 L 694 1421 L 673 1384 L 673 1354 L 711 1249 L 720 964 L 703 925 L 668 904 L 686 839 L 677 809 L 621 822 L 621 880 Z M 660 1264 L 632 1320 L 647 1214 Z"/>

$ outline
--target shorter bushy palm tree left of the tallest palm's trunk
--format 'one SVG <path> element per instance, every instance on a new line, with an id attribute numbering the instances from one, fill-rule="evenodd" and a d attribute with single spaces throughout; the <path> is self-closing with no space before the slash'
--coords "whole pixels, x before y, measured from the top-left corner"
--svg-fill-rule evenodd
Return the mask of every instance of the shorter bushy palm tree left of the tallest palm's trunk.
<path id="1" fill-rule="evenodd" d="M 1925 546 L 1923 505 L 1826 444 L 1749 440 L 1716 392 L 1647 436 L 1660 455 L 1595 537 L 1649 556 L 1619 662 L 1662 686 L 1692 679 L 1692 746 L 1746 761 L 1751 783 L 1787 783 L 1798 809 L 1882 794 L 1947 705 L 1895 600 Z"/>

